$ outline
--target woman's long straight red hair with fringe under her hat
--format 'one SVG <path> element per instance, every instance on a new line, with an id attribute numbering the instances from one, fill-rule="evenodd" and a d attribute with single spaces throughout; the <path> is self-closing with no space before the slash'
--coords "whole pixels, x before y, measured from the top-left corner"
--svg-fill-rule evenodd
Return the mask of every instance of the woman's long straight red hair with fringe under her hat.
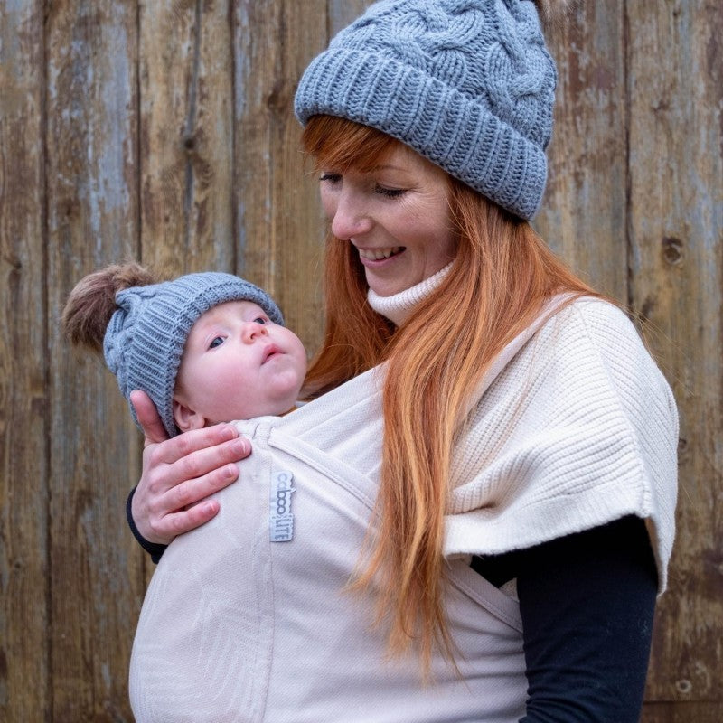
<path id="1" fill-rule="evenodd" d="M 343 118 L 312 117 L 303 136 L 316 167 L 367 170 L 399 143 Z M 306 380 L 310 396 L 387 362 L 384 440 L 371 558 L 356 581 L 379 581 L 379 619 L 390 615 L 390 652 L 417 642 L 428 670 L 453 641 L 443 606 L 444 515 L 455 435 L 484 372 L 550 296 L 597 296 L 527 221 L 451 176 L 457 253 L 444 283 L 399 329 L 367 303 L 352 244 L 327 238 L 325 334 Z"/>

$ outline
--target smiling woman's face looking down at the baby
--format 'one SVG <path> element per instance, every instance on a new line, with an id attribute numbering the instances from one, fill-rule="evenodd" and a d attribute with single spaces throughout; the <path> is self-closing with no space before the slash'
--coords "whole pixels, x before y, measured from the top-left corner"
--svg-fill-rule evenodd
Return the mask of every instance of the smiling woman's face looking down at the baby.
<path id="1" fill-rule="evenodd" d="M 454 258 L 447 194 L 445 172 L 401 144 L 371 171 L 321 174 L 332 233 L 357 249 L 379 296 L 415 286 Z"/>

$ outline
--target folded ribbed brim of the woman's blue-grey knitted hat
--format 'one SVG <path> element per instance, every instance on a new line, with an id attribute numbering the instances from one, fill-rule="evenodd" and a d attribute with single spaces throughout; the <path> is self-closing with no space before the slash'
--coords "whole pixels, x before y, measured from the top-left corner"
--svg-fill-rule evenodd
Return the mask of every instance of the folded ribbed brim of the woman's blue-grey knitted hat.
<path id="1" fill-rule="evenodd" d="M 447 173 L 522 219 L 540 208 L 543 149 L 478 99 L 373 52 L 327 50 L 306 69 L 296 117 L 344 117 L 414 148 Z"/>

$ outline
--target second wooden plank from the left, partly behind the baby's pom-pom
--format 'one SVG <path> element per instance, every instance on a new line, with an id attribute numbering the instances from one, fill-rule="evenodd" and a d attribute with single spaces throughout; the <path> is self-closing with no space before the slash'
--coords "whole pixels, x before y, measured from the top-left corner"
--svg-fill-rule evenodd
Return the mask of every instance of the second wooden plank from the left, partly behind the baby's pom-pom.
<path id="1" fill-rule="evenodd" d="M 138 435 L 105 365 L 70 353 L 58 318 L 80 277 L 136 254 L 136 4 L 53 3 L 46 37 L 52 719 L 131 720 L 143 575 L 123 510 Z"/>

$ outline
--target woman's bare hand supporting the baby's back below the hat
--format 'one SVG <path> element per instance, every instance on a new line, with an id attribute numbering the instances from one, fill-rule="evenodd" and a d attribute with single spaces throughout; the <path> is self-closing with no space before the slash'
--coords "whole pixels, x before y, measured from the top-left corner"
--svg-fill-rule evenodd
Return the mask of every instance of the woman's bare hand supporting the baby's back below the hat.
<path id="1" fill-rule="evenodd" d="M 131 392 L 130 399 L 146 435 L 143 473 L 132 501 L 133 521 L 146 540 L 167 545 L 219 512 L 219 503 L 206 498 L 239 476 L 233 463 L 249 456 L 251 445 L 230 424 L 168 439 L 146 393 Z"/>

